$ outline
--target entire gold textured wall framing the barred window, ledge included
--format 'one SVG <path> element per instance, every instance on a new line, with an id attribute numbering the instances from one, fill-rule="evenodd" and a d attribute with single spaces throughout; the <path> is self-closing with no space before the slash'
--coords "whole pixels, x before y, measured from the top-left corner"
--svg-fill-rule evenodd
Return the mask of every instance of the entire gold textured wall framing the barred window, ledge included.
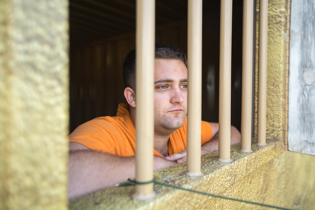
<path id="1" fill-rule="evenodd" d="M 267 137 L 280 139 L 285 118 L 286 3 L 269 2 Z M 0 209 L 65 209 L 67 2 L 2 0 L 0 23 Z M 217 162 L 217 152 L 204 156 L 201 178 L 186 177 L 186 163 L 156 172 L 155 178 L 244 200 L 297 209 L 314 207 L 313 156 L 285 152 L 273 159 L 282 152 L 282 141 L 268 141 L 265 148 L 254 146 L 252 154 L 240 153 L 238 147 L 232 146 L 235 161 L 230 164 Z M 117 204 L 167 209 L 174 204 L 191 209 L 193 204 L 200 209 L 252 208 L 161 186 L 155 188 L 159 192 L 156 200 L 133 201 L 129 197 L 132 190 L 101 190 L 71 201 L 70 207 L 103 209 Z"/>

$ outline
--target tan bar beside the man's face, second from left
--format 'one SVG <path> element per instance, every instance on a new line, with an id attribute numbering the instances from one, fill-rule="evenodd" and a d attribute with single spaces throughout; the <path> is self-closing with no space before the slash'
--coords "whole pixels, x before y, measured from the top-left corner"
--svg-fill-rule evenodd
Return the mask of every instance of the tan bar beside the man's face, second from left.
<path id="1" fill-rule="evenodd" d="M 202 0 L 188 1 L 187 175 L 201 176 Z"/>

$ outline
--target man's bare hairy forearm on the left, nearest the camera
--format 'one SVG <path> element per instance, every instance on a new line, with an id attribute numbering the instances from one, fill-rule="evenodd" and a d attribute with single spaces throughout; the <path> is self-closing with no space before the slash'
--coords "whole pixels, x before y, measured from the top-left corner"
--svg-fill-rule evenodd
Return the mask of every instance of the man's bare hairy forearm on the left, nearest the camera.
<path id="1" fill-rule="evenodd" d="M 74 142 L 70 142 L 69 147 L 69 199 L 135 178 L 134 157 L 96 152 Z M 174 161 L 154 156 L 154 171 L 175 164 Z"/>

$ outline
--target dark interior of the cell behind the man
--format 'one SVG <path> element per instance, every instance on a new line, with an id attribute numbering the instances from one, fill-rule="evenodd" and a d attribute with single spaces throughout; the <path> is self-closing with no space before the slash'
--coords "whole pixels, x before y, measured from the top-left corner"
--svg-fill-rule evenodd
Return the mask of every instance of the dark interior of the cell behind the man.
<path id="1" fill-rule="evenodd" d="M 231 124 L 241 127 L 243 1 L 233 1 Z M 135 0 L 70 0 L 70 132 L 124 103 L 122 62 L 135 48 Z M 187 0 L 156 0 L 156 42 L 187 53 Z M 202 120 L 218 122 L 220 1 L 203 1 Z"/>

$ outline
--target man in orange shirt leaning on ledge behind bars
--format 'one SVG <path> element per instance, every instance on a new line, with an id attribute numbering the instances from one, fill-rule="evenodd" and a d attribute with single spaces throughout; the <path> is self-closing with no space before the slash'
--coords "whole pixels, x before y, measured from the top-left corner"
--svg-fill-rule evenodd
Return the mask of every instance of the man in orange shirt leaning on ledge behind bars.
<path id="1" fill-rule="evenodd" d="M 69 198 L 135 177 L 135 50 L 123 63 L 124 96 L 116 117 L 100 117 L 69 135 Z M 154 73 L 154 170 L 186 161 L 187 59 L 156 44 Z M 201 155 L 218 149 L 218 123 L 202 121 Z M 209 141 L 211 140 L 211 141 Z M 231 126 L 231 144 L 240 133 Z"/>

